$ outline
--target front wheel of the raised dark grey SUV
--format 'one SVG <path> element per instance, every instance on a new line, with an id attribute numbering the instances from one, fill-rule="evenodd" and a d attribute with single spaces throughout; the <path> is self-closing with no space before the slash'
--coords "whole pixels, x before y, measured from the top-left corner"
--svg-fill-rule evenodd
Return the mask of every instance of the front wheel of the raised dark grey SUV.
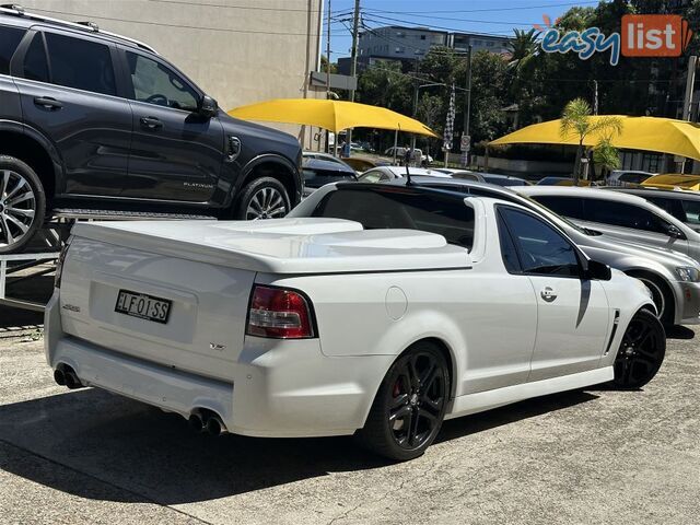
<path id="1" fill-rule="evenodd" d="M 272 177 L 260 177 L 250 180 L 242 189 L 235 219 L 281 219 L 291 209 L 291 201 L 282 183 Z"/>

